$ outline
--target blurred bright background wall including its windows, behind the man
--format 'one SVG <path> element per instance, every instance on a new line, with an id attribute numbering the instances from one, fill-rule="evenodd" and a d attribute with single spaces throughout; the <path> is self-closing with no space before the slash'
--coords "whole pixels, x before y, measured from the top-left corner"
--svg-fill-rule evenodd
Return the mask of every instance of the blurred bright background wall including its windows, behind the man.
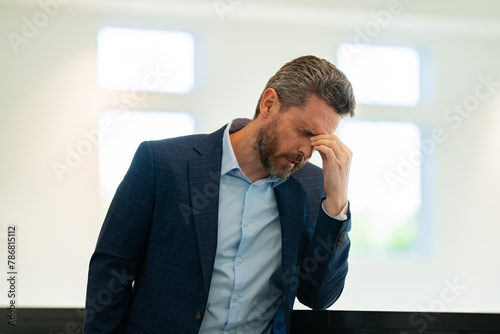
<path id="1" fill-rule="evenodd" d="M 500 2 L 0 0 L 0 28 L 0 259 L 16 225 L 18 307 L 84 306 L 141 141 L 252 118 L 267 80 L 313 54 L 358 100 L 338 130 L 353 226 L 332 309 L 500 312 Z"/>

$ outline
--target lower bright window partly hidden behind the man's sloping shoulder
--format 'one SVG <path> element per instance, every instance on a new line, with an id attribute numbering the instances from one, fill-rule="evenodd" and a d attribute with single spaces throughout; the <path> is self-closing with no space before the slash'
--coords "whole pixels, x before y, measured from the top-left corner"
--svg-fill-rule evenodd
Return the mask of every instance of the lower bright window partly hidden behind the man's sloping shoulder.
<path id="1" fill-rule="evenodd" d="M 99 145 L 99 184 L 106 211 L 139 144 L 194 133 L 190 114 L 159 111 L 105 110 L 99 117 L 108 131 Z"/>

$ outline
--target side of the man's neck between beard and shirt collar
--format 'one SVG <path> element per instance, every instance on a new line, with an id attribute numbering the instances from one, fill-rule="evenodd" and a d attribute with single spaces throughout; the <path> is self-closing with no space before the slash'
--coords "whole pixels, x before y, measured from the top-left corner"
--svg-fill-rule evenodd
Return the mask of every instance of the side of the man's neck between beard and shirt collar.
<path id="1" fill-rule="evenodd" d="M 269 173 L 262 167 L 258 153 L 255 151 L 257 133 L 258 127 L 252 120 L 240 131 L 229 135 L 236 160 L 242 172 L 252 183 L 269 176 Z"/>

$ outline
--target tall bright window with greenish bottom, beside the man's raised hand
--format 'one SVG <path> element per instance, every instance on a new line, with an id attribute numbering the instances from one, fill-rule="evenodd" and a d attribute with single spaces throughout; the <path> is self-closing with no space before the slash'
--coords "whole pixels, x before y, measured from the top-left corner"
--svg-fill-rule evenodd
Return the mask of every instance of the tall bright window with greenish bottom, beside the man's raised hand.
<path id="1" fill-rule="evenodd" d="M 338 136 L 354 153 L 349 178 L 353 251 L 418 251 L 419 232 L 428 223 L 420 220 L 420 128 L 409 122 L 346 120 Z M 312 162 L 321 166 L 316 154 Z"/>

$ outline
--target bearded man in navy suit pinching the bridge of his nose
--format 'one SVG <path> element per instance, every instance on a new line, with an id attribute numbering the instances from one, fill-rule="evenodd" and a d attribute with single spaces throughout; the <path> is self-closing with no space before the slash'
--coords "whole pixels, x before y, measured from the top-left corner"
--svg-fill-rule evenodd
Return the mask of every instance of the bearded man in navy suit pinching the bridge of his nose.
<path id="1" fill-rule="evenodd" d="M 289 333 L 295 297 L 333 304 L 352 157 L 333 133 L 354 107 L 344 74 L 305 56 L 253 120 L 142 143 L 90 261 L 85 333 Z"/>

